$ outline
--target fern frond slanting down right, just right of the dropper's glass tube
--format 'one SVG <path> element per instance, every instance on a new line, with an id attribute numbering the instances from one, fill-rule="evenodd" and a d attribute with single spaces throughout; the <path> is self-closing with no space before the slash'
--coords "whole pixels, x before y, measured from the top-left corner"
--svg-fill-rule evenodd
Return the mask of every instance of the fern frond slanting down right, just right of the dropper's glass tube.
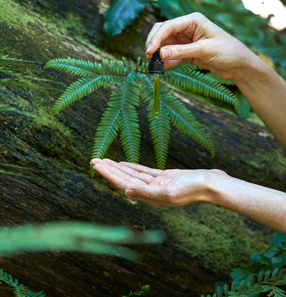
<path id="1" fill-rule="evenodd" d="M 186 109 L 184 104 L 171 94 L 170 89 L 162 88 L 160 94 L 161 100 L 170 115 L 170 120 L 176 128 L 208 148 L 213 156 L 214 145 L 191 111 Z"/>

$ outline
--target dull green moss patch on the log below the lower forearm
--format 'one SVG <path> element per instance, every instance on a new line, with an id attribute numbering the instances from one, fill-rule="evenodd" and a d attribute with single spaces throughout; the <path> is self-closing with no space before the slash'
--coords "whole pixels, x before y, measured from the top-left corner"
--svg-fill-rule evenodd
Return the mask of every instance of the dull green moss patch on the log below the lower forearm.
<path id="1" fill-rule="evenodd" d="M 268 235 L 250 230 L 241 215 L 225 208 L 199 204 L 161 211 L 168 236 L 177 248 L 221 274 L 247 265 L 252 252 L 262 252 L 269 245 Z"/>

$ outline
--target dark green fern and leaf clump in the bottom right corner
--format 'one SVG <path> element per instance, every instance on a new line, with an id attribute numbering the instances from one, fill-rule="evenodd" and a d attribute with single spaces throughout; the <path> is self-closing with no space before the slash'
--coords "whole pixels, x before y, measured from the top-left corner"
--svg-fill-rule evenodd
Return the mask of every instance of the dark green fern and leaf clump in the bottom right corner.
<path id="1" fill-rule="evenodd" d="M 230 274 L 234 280 L 230 287 L 224 282 L 217 283 L 216 293 L 212 297 L 257 297 L 261 294 L 285 297 L 286 235 L 276 233 L 265 252 L 253 253 L 251 259 L 251 265 L 245 269 L 236 268 Z"/>

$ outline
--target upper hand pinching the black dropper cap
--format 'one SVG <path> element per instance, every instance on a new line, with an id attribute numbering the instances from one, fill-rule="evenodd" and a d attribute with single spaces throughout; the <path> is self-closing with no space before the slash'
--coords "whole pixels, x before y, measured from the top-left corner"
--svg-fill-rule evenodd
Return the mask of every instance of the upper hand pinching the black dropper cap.
<path id="1" fill-rule="evenodd" d="M 165 68 L 187 61 L 225 79 L 235 78 L 253 55 L 243 43 L 198 12 L 155 23 L 146 39 L 149 60 L 159 47 Z"/>

